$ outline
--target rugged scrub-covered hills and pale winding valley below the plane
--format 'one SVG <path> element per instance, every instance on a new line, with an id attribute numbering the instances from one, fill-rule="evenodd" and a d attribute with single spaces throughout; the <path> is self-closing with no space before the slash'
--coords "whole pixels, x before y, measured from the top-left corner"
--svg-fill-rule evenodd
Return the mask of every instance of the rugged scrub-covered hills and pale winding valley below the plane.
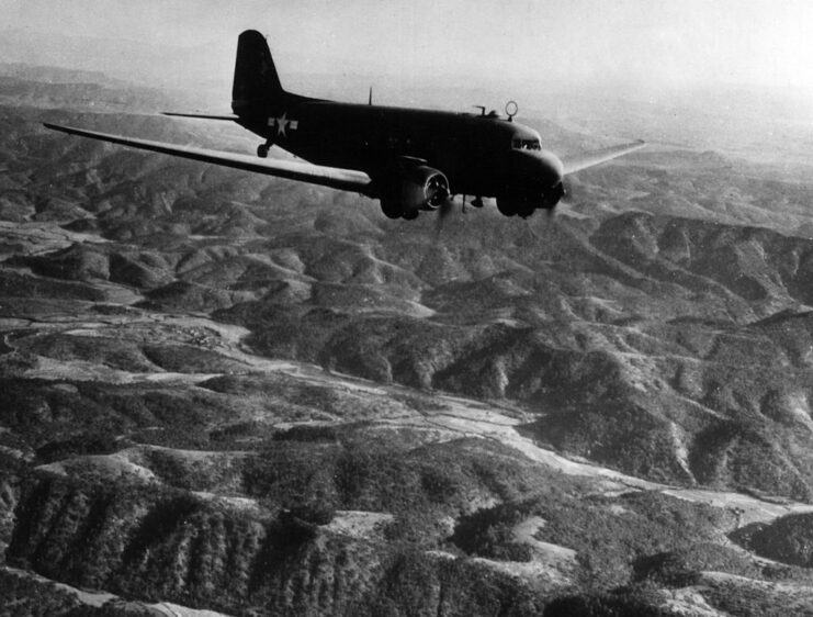
<path id="1" fill-rule="evenodd" d="M 438 236 L 0 75 L 3 614 L 813 614 L 806 176 L 654 144 Z"/>

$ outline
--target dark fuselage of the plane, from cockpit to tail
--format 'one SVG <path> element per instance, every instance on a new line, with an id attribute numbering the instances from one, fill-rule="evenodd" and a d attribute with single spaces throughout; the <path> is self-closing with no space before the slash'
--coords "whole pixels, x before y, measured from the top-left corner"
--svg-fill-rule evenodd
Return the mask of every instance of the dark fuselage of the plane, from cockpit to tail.
<path id="1" fill-rule="evenodd" d="M 539 149 L 539 133 L 504 119 L 318 100 L 292 103 L 238 122 L 309 162 L 360 169 L 372 178 L 393 161 L 424 160 L 443 170 L 454 193 L 497 197 L 518 180 L 544 182 L 549 168 L 561 173 L 556 158 Z"/>

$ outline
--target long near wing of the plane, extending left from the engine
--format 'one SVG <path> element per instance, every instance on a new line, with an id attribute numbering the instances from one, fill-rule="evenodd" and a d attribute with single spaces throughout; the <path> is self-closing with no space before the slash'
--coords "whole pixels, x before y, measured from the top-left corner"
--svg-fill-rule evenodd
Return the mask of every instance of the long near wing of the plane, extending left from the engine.
<path id="1" fill-rule="evenodd" d="M 150 142 L 148 139 L 136 139 L 135 137 L 124 137 L 122 135 L 111 135 L 109 133 L 97 133 L 95 131 L 86 131 L 83 128 L 74 128 L 72 126 L 60 126 L 58 124 L 43 123 L 46 128 L 61 131 L 69 135 L 80 135 L 91 139 L 101 139 L 111 144 L 120 144 L 132 148 L 150 150 L 154 153 L 178 156 L 181 158 L 191 158 L 234 169 L 244 169 L 266 176 L 278 176 L 289 180 L 300 180 L 331 189 L 342 191 L 354 191 L 363 194 L 370 194 L 372 191 L 372 181 L 370 176 L 363 171 L 354 169 L 340 169 L 338 167 L 321 167 L 310 165 L 309 162 L 300 162 L 294 160 L 279 160 L 259 158 L 249 155 L 240 155 L 219 150 L 210 150 L 205 148 L 195 148 L 192 146 L 178 146 L 163 142 Z"/>

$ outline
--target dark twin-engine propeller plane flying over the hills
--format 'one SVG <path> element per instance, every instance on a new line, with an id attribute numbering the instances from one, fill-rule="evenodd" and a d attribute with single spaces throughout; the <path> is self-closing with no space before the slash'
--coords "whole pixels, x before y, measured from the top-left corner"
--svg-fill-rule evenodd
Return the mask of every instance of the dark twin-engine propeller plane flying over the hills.
<path id="1" fill-rule="evenodd" d="M 46 123 L 74 135 L 102 139 L 204 162 L 279 176 L 381 200 L 391 218 L 415 218 L 440 209 L 443 216 L 454 194 L 497 199 L 506 216 L 528 217 L 538 209 L 552 212 L 565 195 L 567 173 L 599 165 L 643 147 L 643 142 L 605 148 L 573 158 L 542 149 L 537 131 L 496 112 L 451 113 L 349 104 L 286 92 L 280 83 L 266 38 L 246 31 L 237 42 L 230 115 L 168 113 L 183 117 L 227 120 L 263 137 L 259 158 L 184 147 Z M 280 146 L 304 161 L 268 159 Z M 465 202 L 465 197 L 463 198 Z"/>

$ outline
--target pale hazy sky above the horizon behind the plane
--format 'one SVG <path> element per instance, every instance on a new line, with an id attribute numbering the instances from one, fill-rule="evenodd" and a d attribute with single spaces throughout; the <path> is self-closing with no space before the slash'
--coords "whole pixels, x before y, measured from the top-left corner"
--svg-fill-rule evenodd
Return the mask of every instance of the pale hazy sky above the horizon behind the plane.
<path id="1" fill-rule="evenodd" d="M 813 1 L 804 0 L 0 0 L 0 14 L 4 29 L 206 46 L 224 76 L 237 34 L 253 27 L 279 65 L 305 72 L 813 92 Z"/>

